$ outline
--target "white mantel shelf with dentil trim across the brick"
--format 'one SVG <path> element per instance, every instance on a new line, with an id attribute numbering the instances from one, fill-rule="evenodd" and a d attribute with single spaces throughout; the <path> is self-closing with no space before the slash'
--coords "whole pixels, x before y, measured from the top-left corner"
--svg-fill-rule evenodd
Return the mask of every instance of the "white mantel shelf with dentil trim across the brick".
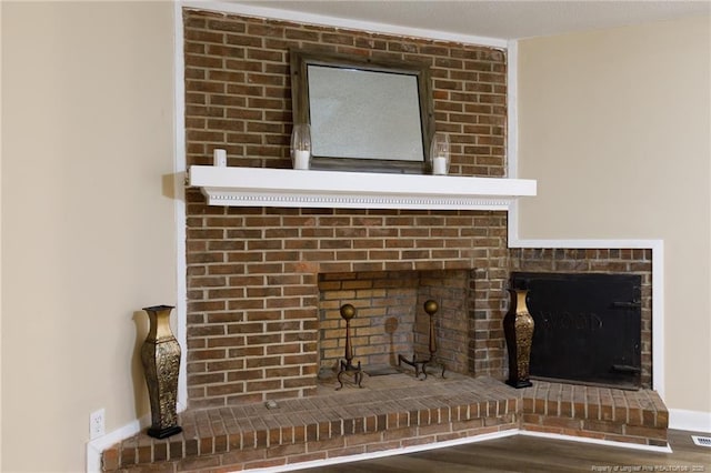
<path id="1" fill-rule="evenodd" d="M 528 179 L 192 165 L 209 205 L 508 210 L 535 195 Z"/>

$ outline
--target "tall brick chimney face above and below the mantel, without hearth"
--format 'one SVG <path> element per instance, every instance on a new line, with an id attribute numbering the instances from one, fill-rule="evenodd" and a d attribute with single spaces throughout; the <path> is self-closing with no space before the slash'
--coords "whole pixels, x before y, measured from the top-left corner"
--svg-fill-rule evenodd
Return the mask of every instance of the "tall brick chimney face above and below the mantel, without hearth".
<path id="1" fill-rule="evenodd" d="M 451 173 L 505 174 L 504 51 L 192 10 L 184 26 L 189 165 L 223 148 L 230 167 L 290 168 L 289 49 L 318 48 L 430 64 Z M 342 273 L 467 272 L 452 369 L 503 376 L 504 212 L 209 207 L 192 188 L 187 201 L 191 406 L 312 394 L 333 356 L 319 348 L 319 281 Z"/>

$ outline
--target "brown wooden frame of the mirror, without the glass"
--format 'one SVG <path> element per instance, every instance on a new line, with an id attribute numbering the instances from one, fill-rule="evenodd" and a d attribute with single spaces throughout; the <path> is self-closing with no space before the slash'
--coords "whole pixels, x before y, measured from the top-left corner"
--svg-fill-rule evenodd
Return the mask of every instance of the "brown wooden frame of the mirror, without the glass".
<path id="1" fill-rule="evenodd" d="M 309 66 L 326 66 L 339 69 L 357 69 L 370 72 L 413 76 L 418 83 L 420 127 L 423 148 L 422 161 L 312 157 L 311 168 L 319 170 L 394 172 L 423 174 L 430 162 L 430 142 L 434 134 L 434 118 L 430 69 L 428 64 L 400 60 L 367 58 L 304 49 L 290 50 L 291 103 L 294 123 L 311 123 L 309 101 Z"/>

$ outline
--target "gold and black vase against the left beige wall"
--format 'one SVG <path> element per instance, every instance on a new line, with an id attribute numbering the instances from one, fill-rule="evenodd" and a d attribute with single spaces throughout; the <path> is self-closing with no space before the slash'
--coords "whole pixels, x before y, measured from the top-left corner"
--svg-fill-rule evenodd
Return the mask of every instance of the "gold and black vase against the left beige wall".
<path id="1" fill-rule="evenodd" d="M 182 431 L 178 425 L 178 372 L 180 344 L 170 330 L 171 305 L 143 308 L 150 321 L 148 336 L 141 346 L 141 362 L 151 402 L 151 426 L 148 434 L 166 439 Z"/>

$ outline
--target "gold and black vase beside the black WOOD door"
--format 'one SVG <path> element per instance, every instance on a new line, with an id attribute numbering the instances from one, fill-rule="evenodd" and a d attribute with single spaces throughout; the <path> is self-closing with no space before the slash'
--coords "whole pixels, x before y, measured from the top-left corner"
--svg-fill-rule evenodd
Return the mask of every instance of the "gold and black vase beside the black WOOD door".
<path id="1" fill-rule="evenodd" d="M 513 388 L 528 388 L 529 362 L 531 359 L 531 341 L 533 339 L 533 318 L 525 305 L 528 290 L 509 289 L 511 304 L 503 318 L 503 333 L 509 349 L 509 380 Z"/>

